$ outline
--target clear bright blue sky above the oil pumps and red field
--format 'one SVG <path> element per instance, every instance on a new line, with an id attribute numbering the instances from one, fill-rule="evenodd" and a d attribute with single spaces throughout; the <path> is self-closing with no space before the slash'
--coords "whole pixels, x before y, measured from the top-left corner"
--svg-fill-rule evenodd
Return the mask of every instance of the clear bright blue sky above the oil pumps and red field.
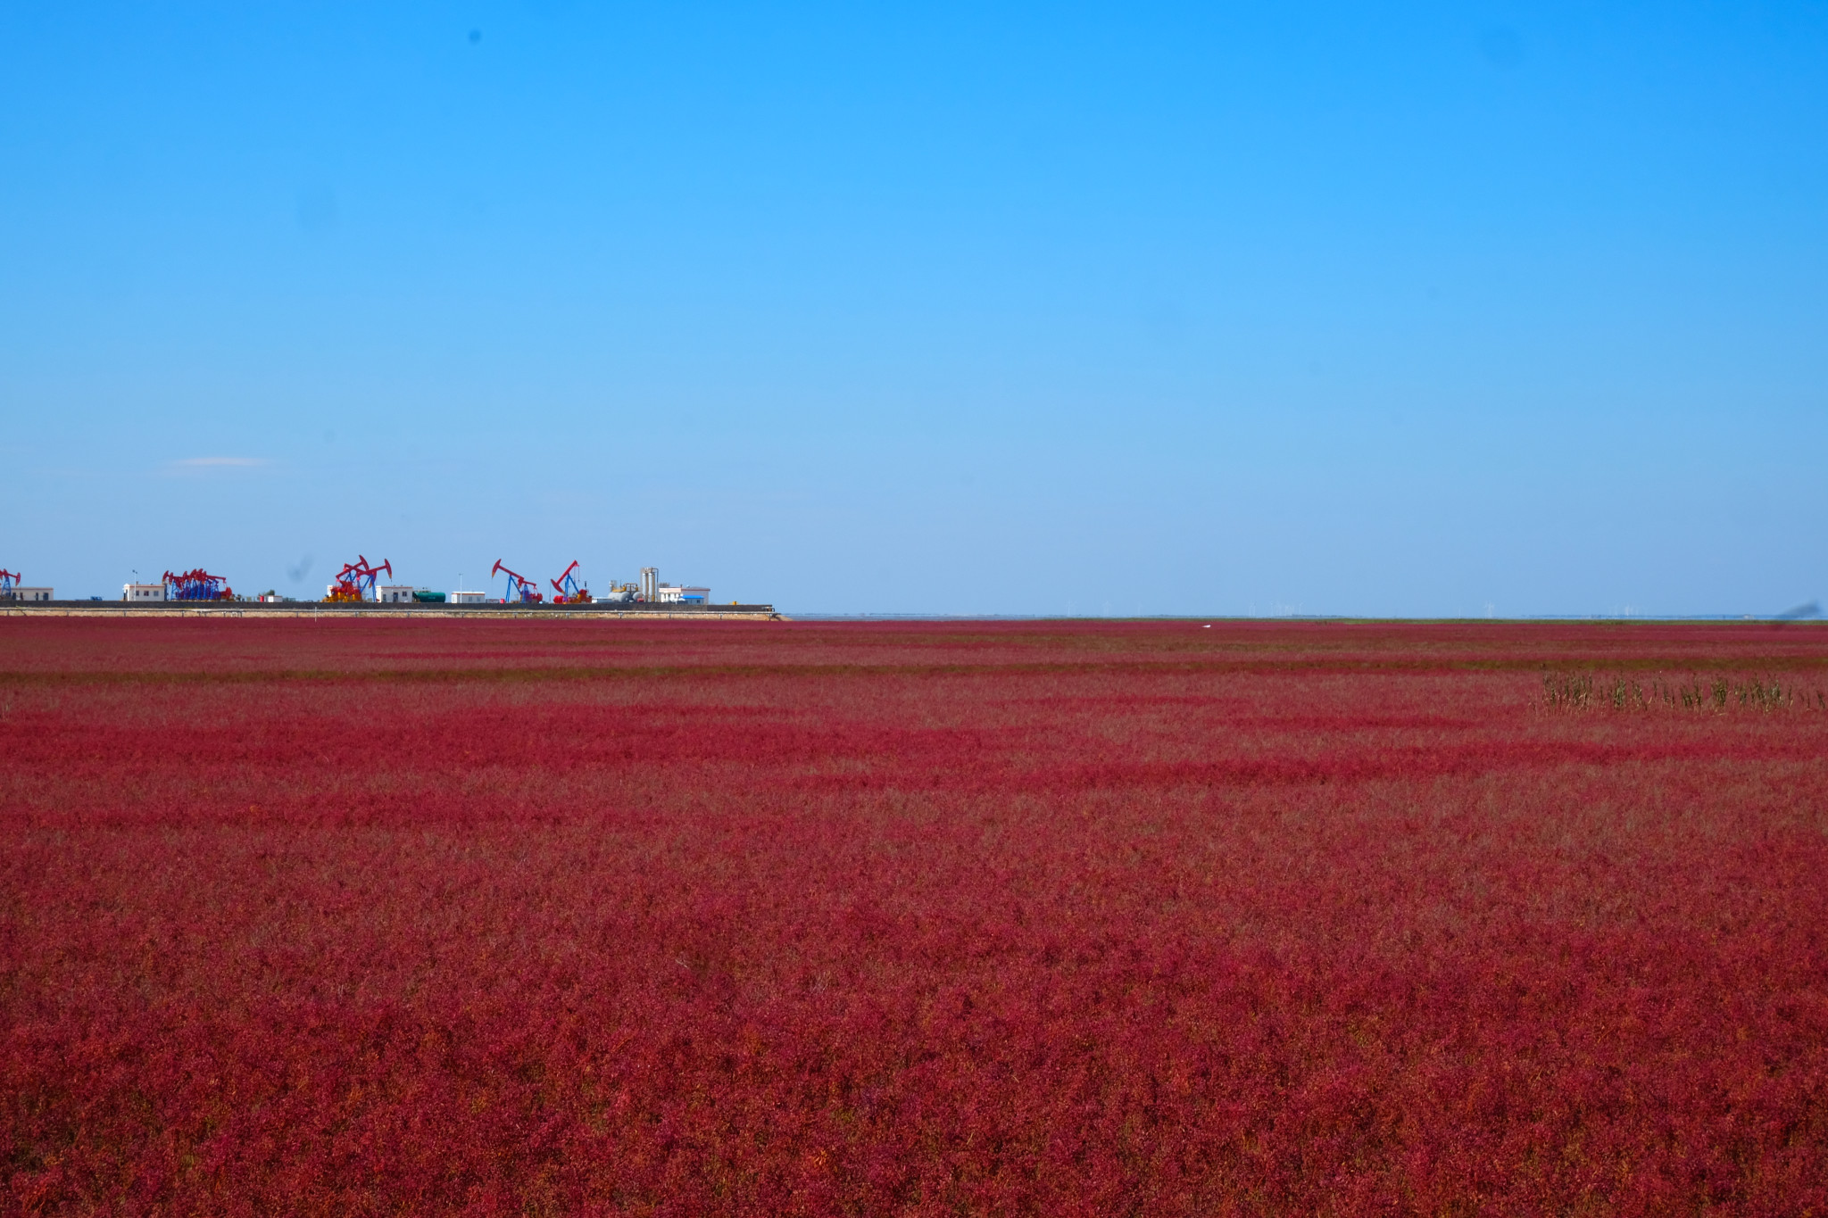
<path id="1" fill-rule="evenodd" d="M 1828 4 L 18 0 L 0 420 L 58 595 L 1784 610 Z"/>

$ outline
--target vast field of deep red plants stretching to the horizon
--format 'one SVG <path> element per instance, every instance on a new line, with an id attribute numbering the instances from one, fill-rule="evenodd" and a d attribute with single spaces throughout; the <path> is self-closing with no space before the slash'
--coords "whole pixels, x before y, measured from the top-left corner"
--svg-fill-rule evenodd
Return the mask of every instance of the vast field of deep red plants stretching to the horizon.
<path id="1" fill-rule="evenodd" d="M 1828 630 L 0 621 L 0 1209 L 1828 1213 Z"/>

